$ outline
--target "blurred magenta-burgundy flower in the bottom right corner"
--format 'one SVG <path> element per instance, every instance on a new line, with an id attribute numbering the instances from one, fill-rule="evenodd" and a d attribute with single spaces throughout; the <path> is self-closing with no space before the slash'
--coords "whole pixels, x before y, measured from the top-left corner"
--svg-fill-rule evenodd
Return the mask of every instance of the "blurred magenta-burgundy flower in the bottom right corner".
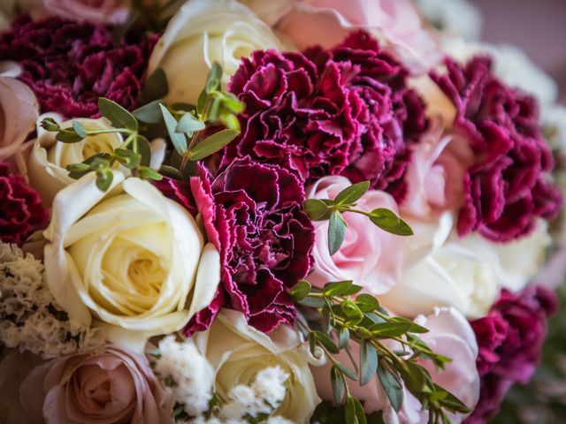
<path id="1" fill-rule="evenodd" d="M 513 384 L 531 379 L 539 362 L 548 316 L 557 307 L 555 293 L 544 286 L 528 286 L 520 293 L 503 290 L 490 313 L 471 322 L 478 339 L 476 364 L 481 391 L 478 406 L 466 422 L 486 422 L 499 411 Z"/>

